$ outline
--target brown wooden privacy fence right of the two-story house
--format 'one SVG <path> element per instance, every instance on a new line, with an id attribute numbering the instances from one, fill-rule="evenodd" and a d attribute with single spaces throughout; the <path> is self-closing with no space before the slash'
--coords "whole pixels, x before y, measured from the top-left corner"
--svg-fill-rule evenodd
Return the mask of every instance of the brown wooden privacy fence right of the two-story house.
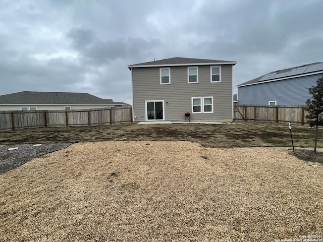
<path id="1" fill-rule="evenodd" d="M 307 112 L 302 105 L 234 105 L 234 120 L 304 125 Z"/>

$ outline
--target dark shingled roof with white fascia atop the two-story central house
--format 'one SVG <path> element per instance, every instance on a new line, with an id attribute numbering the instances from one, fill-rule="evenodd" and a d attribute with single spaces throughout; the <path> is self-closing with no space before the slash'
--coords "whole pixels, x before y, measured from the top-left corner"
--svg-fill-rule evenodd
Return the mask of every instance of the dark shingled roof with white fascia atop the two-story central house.
<path id="1" fill-rule="evenodd" d="M 212 65 L 212 64 L 237 64 L 236 62 L 231 61 L 219 61 L 217 59 L 196 59 L 196 58 L 183 58 L 183 57 L 173 57 L 168 59 L 160 59 L 153 62 L 144 62 L 134 65 L 129 65 L 128 68 L 136 67 L 159 67 L 159 66 L 184 66 L 184 65 Z"/>

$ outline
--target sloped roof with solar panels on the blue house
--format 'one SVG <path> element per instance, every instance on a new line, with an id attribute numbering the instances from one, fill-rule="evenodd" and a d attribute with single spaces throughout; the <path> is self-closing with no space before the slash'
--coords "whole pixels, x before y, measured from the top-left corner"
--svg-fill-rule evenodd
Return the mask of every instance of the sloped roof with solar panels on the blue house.
<path id="1" fill-rule="evenodd" d="M 315 62 L 311 64 L 306 64 L 302 66 L 291 67 L 287 69 L 270 72 L 263 76 L 252 79 L 250 81 L 241 83 L 236 87 L 242 87 L 242 86 L 247 86 L 252 84 L 260 84 L 262 82 L 274 81 L 276 79 L 277 80 L 289 79 L 289 78 L 293 78 L 304 74 L 311 75 L 311 73 L 316 73 L 320 71 L 323 71 L 323 62 Z"/>

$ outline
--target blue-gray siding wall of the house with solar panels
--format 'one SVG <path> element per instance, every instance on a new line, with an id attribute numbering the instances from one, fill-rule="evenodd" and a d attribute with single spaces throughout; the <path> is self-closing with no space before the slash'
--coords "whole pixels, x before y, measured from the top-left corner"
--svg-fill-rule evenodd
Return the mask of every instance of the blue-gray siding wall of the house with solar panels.
<path id="1" fill-rule="evenodd" d="M 268 101 L 277 101 L 277 105 L 304 105 L 311 97 L 308 88 L 315 86 L 319 77 L 321 74 L 238 87 L 238 103 L 268 105 Z"/>

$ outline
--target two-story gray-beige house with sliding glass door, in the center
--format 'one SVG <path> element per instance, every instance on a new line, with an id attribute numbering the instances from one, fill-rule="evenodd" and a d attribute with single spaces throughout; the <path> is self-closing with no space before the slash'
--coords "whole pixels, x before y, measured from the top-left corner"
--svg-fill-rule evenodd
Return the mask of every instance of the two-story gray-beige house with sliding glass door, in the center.
<path id="1" fill-rule="evenodd" d="M 214 59 L 174 57 L 130 65 L 135 122 L 232 121 L 232 67 Z"/>

